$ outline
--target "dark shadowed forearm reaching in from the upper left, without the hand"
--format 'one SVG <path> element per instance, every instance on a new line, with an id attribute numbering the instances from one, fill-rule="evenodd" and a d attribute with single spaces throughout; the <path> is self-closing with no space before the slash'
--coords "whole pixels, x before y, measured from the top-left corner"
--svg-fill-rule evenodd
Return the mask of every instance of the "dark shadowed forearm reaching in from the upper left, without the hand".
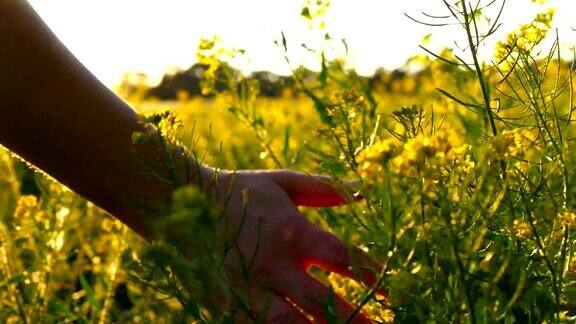
<path id="1" fill-rule="evenodd" d="M 173 186 L 139 157 L 160 152 L 132 143 L 134 111 L 21 0 L 0 0 L 0 102 L 1 144 L 146 235 L 137 202 L 166 201 Z"/>

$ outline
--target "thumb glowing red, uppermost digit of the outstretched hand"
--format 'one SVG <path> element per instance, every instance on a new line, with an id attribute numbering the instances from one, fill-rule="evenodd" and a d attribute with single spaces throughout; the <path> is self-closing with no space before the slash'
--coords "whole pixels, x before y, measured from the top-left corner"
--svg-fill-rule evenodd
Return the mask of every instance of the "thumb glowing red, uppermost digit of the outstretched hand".
<path id="1" fill-rule="evenodd" d="M 292 170 L 271 171 L 270 176 L 297 206 L 329 207 L 358 198 L 353 195 L 352 190 L 346 190 L 342 185 L 337 186 L 328 176 L 310 175 Z"/>

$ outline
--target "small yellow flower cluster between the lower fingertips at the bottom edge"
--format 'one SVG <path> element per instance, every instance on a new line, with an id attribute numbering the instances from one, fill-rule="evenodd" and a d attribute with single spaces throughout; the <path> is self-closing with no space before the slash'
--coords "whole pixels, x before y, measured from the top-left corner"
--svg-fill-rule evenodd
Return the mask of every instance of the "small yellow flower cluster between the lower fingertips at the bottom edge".
<path id="1" fill-rule="evenodd" d="M 357 304 L 366 292 L 366 288 L 355 281 L 335 273 L 331 273 L 328 280 L 334 292 L 341 296 L 349 296 L 353 305 Z M 373 300 L 364 305 L 362 310 L 376 323 L 394 323 L 394 311 L 390 309 L 390 302 L 384 297 L 375 296 Z"/>

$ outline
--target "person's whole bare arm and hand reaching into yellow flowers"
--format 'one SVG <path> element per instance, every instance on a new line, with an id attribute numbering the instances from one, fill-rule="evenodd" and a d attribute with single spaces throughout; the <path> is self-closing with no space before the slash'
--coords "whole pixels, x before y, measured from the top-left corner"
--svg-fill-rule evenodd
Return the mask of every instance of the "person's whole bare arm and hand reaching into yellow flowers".
<path id="1" fill-rule="evenodd" d="M 150 177 L 143 165 L 142 157 L 155 160 L 163 151 L 133 145 L 134 132 L 144 131 L 134 111 L 98 82 L 26 1 L 0 0 L 0 49 L 0 143 L 147 236 L 144 223 L 154 215 L 143 215 L 137 202 L 168 202 L 174 188 Z M 369 269 L 377 269 L 376 263 L 306 221 L 295 207 L 343 203 L 327 179 L 291 171 L 222 173 L 214 191 L 221 204 L 230 186 L 226 229 L 241 231 L 226 271 L 255 310 L 272 302 L 266 320 L 308 321 L 293 304 L 316 320 L 324 317 L 329 290 L 307 273 L 310 265 L 374 283 Z M 244 280 L 241 260 L 255 250 Z M 357 274 L 352 263 L 365 270 Z M 343 300 L 336 303 L 343 319 L 352 312 Z M 358 315 L 355 321 L 368 319 Z"/>

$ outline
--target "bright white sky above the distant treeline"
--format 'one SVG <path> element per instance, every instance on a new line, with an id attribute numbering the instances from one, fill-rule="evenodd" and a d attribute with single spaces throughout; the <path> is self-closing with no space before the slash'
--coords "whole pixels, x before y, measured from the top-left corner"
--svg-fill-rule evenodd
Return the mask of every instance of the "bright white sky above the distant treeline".
<path id="1" fill-rule="evenodd" d="M 319 34 L 300 16 L 302 0 L 29 0 L 66 46 L 106 85 L 126 71 L 144 72 L 152 82 L 170 69 L 195 60 L 198 41 L 219 35 L 225 46 L 246 50 L 246 71 L 287 73 L 274 44 L 284 31 L 296 64 L 310 65 L 299 45 L 317 44 Z M 500 2 L 500 1 L 497 1 Z M 566 44 L 576 44 L 574 0 L 550 0 L 558 8 L 555 25 Z M 508 0 L 502 32 L 529 21 L 542 7 L 530 0 Z M 454 27 L 432 28 L 404 13 L 445 15 L 441 0 L 332 0 L 327 31 L 345 38 L 349 59 L 362 74 L 377 67 L 397 68 L 419 53 L 422 38 L 433 33 L 432 48 L 462 40 Z M 461 41 L 461 44 L 464 44 Z M 567 45 L 568 47 L 568 45 Z M 308 61 L 307 61 L 308 60 Z"/>

